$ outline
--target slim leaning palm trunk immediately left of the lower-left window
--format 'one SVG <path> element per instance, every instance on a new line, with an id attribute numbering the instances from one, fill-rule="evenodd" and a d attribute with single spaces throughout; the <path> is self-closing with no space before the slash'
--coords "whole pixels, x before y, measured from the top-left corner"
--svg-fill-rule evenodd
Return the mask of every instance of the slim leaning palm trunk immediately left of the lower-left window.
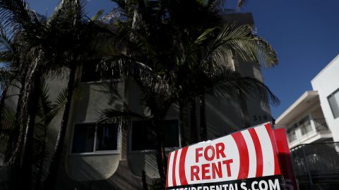
<path id="1" fill-rule="evenodd" d="M 62 156 L 62 150 L 64 148 L 64 141 L 66 136 L 66 129 L 69 123 L 69 113 L 71 110 L 71 100 L 73 96 L 73 89 L 76 80 L 76 65 L 71 66 L 67 90 L 67 101 L 64 109 L 64 115 L 62 116 L 61 126 L 58 134 L 58 139 L 54 147 L 54 153 L 52 156 L 51 163 L 49 165 L 49 172 L 44 184 L 45 190 L 54 189 L 55 183 L 57 182 L 57 174 Z"/>

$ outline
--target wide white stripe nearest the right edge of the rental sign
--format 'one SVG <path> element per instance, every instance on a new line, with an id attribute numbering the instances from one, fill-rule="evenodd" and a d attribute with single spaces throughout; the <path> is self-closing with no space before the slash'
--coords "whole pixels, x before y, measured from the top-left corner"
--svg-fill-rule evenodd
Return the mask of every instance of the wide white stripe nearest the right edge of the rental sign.
<path id="1" fill-rule="evenodd" d="M 274 175 L 274 154 L 272 142 L 265 126 L 256 127 L 256 134 L 261 144 L 261 150 L 263 151 L 263 176 Z"/>

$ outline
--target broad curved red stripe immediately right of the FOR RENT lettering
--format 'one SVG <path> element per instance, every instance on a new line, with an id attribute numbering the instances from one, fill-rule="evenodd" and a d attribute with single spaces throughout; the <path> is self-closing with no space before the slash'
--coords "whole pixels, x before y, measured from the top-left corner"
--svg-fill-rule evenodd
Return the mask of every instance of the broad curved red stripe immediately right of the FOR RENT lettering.
<path id="1" fill-rule="evenodd" d="M 240 168 L 238 179 L 246 179 L 249 175 L 249 149 L 241 132 L 232 134 L 232 137 L 239 150 Z"/>

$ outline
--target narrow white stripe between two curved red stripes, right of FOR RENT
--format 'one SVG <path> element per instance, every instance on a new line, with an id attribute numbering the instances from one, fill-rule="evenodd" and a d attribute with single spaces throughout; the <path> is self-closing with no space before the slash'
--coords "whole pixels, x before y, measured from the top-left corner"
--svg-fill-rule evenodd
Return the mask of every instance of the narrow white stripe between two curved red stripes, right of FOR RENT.
<path id="1" fill-rule="evenodd" d="M 249 130 L 242 131 L 242 136 L 246 141 L 247 149 L 249 150 L 249 175 L 250 177 L 256 177 L 256 148 L 254 147 L 254 143 L 249 134 Z"/>

